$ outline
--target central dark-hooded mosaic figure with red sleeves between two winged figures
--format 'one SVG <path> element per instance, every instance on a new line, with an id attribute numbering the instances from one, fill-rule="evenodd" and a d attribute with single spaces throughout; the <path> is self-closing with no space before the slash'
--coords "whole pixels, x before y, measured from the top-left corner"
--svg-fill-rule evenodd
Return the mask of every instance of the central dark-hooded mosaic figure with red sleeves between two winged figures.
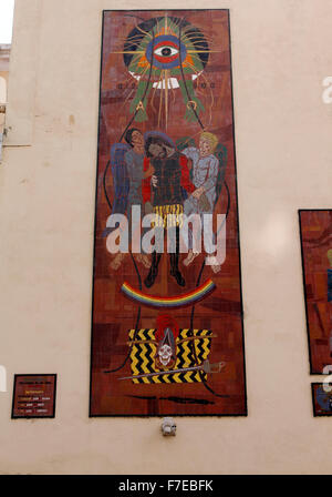
<path id="1" fill-rule="evenodd" d="M 155 172 L 152 176 L 152 190 L 151 181 L 144 180 L 143 200 L 152 202 L 153 212 L 158 215 L 155 230 L 176 227 L 176 250 L 175 253 L 169 254 L 170 275 L 175 277 L 179 286 L 185 286 L 185 278 L 178 268 L 179 227 L 183 224 L 184 201 L 188 193 L 195 190 L 189 179 L 188 160 L 176 151 L 173 141 L 167 135 L 157 132 L 147 133 L 145 154 L 144 170 L 149 170 L 152 165 Z M 156 236 L 156 240 L 160 239 Z M 153 252 L 149 273 L 144 282 L 148 288 L 155 283 L 164 252 L 162 247 L 156 248 Z"/>

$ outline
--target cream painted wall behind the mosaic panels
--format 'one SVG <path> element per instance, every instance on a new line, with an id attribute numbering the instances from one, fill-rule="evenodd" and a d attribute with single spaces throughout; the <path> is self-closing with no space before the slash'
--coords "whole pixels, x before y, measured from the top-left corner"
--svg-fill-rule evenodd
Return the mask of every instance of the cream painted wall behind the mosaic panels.
<path id="1" fill-rule="evenodd" d="M 143 6 L 166 4 L 17 0 L 0 166 L 0 471 L 331 473 L 332 418 L 312 415 L 321 378 L 309 375 L 297 214 L 332 206 L 331 0 L 204 4 L 230 9 L 248 418 L 178 418 L 163 438 L 158 418 L 87 417 L 102 9 Z M 54 420 L 10 419 L 14 373 L 59 374 Z"/>

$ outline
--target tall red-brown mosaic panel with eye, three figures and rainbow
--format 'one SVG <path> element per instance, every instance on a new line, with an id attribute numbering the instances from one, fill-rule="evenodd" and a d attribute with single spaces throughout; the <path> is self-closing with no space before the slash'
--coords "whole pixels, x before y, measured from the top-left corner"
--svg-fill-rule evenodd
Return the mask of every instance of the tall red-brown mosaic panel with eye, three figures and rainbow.
<path id="1" fill-rule="evenodd" d="M 90 415 L 247 415 L 228 10 L 104 11 Z"/>

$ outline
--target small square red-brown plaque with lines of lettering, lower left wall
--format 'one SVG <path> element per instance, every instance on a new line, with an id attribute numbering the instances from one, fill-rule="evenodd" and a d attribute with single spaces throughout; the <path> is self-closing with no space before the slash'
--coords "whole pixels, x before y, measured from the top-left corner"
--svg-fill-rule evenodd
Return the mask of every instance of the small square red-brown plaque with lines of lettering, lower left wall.
<path id="1" fill-rule="evenodd" d="M 55 417 L 56 375 L 14 375 L 12 419 Z"/>

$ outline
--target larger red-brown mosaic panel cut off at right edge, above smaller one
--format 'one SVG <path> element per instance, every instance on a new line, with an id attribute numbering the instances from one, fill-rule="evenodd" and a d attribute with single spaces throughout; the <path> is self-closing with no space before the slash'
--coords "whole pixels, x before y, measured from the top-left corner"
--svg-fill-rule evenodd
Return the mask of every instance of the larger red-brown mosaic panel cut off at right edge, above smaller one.
<path id="1" fill-rule="evenodd" d="M 311 374 L 332 364 L 332 210 L 301 210 L 300 230 Z"/>

